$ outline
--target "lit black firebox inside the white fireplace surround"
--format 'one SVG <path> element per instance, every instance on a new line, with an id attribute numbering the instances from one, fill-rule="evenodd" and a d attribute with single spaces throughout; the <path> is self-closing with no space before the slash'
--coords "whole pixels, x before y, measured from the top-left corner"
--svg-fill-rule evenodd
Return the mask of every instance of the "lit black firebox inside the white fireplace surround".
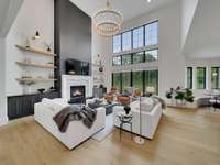
<path id="1" fill-rule="evenodd" d="M 70 103 L 85 103 L 85 86 L 70 86 Z"/>

